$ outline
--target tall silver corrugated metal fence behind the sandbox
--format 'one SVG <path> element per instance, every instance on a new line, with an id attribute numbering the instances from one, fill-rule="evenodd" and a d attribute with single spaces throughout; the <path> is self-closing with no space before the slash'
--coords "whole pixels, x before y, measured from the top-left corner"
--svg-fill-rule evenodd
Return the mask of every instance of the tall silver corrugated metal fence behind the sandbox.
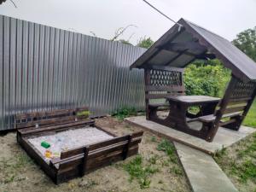
<path id="1" fill-rule="evenodd" d="M 90 107 L 94 116 L 144 106 L 145 49 L 0 15 L 0 130 L 14 114 Z"/>

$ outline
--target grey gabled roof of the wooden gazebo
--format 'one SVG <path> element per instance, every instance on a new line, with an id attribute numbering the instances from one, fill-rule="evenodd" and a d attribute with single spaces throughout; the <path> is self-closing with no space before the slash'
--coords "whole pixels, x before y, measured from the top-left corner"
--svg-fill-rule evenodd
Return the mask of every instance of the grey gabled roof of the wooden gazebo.
<path id="1" fill-rule="evenodd" d="M 225 38 L 180 19 L 131 68 L 186 67 L 196 59 L 218 58 L 239 79 L 256 80 L 256 63 Z"/>

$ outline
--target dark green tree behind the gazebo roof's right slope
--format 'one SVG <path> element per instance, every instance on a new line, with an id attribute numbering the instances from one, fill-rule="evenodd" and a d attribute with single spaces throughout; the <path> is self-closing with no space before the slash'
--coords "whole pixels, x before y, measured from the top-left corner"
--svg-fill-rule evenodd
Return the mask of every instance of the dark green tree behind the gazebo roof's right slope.
<path id="1" fill-rule="evenodd" d="M 256 61 L 256 26 L 253 29 L 240 32 L 232 43 L 253 61 Z"/>

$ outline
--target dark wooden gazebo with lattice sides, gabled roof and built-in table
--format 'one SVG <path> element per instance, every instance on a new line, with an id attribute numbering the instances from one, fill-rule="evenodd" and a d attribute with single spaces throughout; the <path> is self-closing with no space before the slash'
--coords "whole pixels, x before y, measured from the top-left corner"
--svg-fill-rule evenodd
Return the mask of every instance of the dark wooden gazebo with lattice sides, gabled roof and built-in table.
<path id="1" fill-rule="evenodd" d="M 222 99 L 210 96 L 184 96 L 183 68 L 201 59 L 218 58 L 230 68 L 232 77 Z M 179 20 L 137 59 L 131 68 L 143 68 L 148 120 L 155 121 L 212 142 L 219 126 L 238 130 L 256 95 L 256 63 L 225 38 L 188 20 Z M 167 102 L 156 103 L 165 99 Z M 188 112 L 200 106 L 197 114 Z M 166 118 L 157 112 L 167 106 Z M 200 122 L 199 129 L 189 126 Z"/>

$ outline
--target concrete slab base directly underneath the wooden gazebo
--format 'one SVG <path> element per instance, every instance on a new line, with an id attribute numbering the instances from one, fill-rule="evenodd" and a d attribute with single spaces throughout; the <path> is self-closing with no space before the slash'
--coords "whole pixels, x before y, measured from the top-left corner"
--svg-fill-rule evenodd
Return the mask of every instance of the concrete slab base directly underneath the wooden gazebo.
<path id="1" fill-rule="evenodd" d="M 241 126 L 239 131 L 220 127 L 212 143 L 208 143 L 204 139 L 190 136 L 182 131 L 177 131 L 165 125 L 160 125 L 147 120 L 145 116 L 126 118 L 125 121 L 133 125 L 139 125 L 145 130 L 154 132 L 162 137 L 167 137 L 172 141 L 177 141 L 178 143 L 183 143 L 191 148 L 199 149 L 207 154 L 216 154 L 218 150 L 227 148 L 256 131 L 256 129 L 247 126 Z"/>

